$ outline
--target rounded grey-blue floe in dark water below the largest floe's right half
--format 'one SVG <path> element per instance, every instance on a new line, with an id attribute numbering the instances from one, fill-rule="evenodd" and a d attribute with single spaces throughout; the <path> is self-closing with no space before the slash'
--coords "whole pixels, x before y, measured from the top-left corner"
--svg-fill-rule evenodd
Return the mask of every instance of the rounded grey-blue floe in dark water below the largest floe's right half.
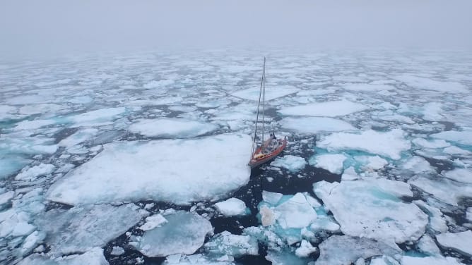
<path id="1" fill-rule="evenodd" d="M 164 218 L 167 222 L 136 237 L 131 245 L 148 257 L 194 254 L 203 245 L 205 236 L 213 233 L 211 223 L 198 214 L 176 211 Z"/>

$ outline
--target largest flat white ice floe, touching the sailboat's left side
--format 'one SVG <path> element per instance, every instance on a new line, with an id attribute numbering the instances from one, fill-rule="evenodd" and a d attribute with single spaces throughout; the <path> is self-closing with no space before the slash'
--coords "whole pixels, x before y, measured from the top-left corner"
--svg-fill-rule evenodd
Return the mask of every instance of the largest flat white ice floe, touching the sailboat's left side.
<path id="1" fill-rule="evenodd" d="M 234 134 L 105 144 L 98 156 L 54 183 L 47 198 L 74 205 L 214 201 L 249 180 L 250 145 L 249 136 Z"/>

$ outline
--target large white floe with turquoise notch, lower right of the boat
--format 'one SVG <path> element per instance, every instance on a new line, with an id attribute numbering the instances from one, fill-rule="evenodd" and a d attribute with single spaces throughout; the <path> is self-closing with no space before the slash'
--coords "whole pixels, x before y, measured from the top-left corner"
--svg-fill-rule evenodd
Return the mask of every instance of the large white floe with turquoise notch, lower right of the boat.
<path id="1" fill-rule="evenodd" d="M 400 199 L 413 196 L 407 183 L 386 179 L 321 181 L 313 187 L 346 235 L 392 244 L 418 240 L 425 232 L 427 215 Z"/>

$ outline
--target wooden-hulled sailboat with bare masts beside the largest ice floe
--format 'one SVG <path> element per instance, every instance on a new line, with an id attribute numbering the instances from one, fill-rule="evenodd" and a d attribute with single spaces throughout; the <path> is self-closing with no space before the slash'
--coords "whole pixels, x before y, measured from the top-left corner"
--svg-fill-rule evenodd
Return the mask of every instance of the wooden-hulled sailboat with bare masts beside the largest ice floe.
<path id="1" fill-rule="evenodd" d="M 262 98 L 262 101 L 261 101 Z M 261 104 L 262 102 L 262 104 Z M 264 119 L 265 119 L 265 103 L 266 103 L 266 57 L 264 57 L 264 66 L 262 67 L 261 89 L 259 91 L 259 101 L 257 104 L 256 128 L 254 130 L 254 138 L 252 141 L 251 159 L 249 166 L 256 168 L 261 164 L 271 161 L 281 154 L 287 145 L 287 138 L 278 139 L 274 132 L 271 132 L 267 139 L 264 139 Z M 259 113 L 262 105 L 262 137 L 261 143 L 256 147 L 257 128 L 259 125 Z"/>

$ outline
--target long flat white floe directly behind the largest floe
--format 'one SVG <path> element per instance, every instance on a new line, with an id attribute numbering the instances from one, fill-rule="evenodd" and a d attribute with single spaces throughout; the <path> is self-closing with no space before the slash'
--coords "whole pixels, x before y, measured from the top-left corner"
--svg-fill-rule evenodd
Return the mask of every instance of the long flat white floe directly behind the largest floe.
<path id="1" fill-rule="evenodd" d="M 151 137 L 190 138 L 218 129 L 213 123 L 202 123 L 184 118 L 138 119 L 129 126 L 134 133 Z"/>

